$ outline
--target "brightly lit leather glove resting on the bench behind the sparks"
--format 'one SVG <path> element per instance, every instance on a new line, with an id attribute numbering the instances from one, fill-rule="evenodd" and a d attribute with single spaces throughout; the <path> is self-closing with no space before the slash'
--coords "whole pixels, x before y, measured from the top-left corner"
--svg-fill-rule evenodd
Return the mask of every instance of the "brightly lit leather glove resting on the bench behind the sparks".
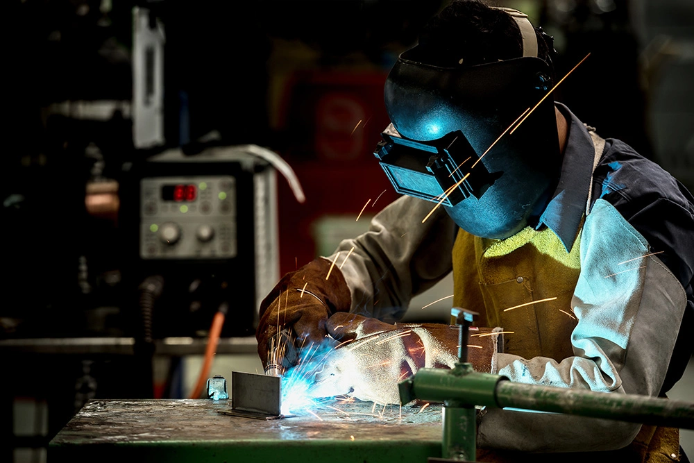
<path id="1" fill-rule="evenodd" d="M 357 314 L 335 314 L 328 334 L 341 342 L 316 373 L 315 397 L 341 394 L 378 404 L 400 403 L 398 382 L 420 368 L 452 368 L 458 361 L 458 326 L 439 323 L 391 325 Z M 500 328 L 471 328 L 468 362 L 489 373 Z"/>

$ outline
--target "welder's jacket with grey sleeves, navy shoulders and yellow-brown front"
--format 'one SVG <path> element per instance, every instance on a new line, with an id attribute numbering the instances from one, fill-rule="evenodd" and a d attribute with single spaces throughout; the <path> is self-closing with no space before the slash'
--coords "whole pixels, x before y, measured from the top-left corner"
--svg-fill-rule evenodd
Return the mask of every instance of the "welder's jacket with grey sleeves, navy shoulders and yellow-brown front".
<path id="1" fill-rule="evenodd" d="M 570 120 L 568 142 L 559 185 L 536 228 L 504 240 L 473 237 L 443 208 L 422 223 L 434 204 L 403 196 L 326 258 L 354 246 L 341 267 L 350 310 L 389 322 L 452 271 L 455 306 L 479 312 L 480 326 L 513 331 L 492 359 L 492 372 L 510 380 L 663 396 L 682 377 L 693 346 L 694 199 L 654 162 L 557 107 Z M 645 453 L 669 458 L 677 456 L 674 431 L 488 410 L 477 444 L 536 453 L 628 446 L 641 455 L 636 460 Z"/>

